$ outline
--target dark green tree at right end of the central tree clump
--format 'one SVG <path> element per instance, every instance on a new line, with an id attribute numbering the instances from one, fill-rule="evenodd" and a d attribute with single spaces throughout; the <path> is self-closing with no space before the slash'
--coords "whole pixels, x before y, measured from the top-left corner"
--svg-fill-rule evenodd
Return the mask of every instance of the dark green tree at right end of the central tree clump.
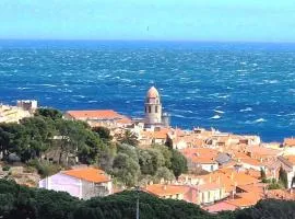
<path id="1" fill-rule="evenodd" d="M 177 150 L 172 152 L 172 170 L 176 178 L 188 171 L 187 159 Z"/>

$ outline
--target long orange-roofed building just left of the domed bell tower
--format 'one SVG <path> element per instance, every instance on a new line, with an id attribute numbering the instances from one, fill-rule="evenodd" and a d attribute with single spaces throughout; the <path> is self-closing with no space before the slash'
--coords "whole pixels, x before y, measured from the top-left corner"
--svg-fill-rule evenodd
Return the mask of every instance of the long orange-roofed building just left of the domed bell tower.
<path id="1" fill-rule="evenodd" d="M 90 126 L 128 126 L 132 120 L 113 110 L 96 110 L 96 111 L 68 111 L 64 118 L 71 120 L 84 120 Z"/>

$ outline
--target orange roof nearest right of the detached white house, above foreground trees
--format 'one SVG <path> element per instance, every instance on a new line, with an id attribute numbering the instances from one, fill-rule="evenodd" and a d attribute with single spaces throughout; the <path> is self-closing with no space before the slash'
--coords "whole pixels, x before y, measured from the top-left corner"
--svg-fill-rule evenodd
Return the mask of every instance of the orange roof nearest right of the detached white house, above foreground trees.
<path id="1" fill-rule="evenodd" d="M 190 189 L 189 186 L 186 185 L 162 185 L 162 184 L 153 184 L 148 185 L 144 191 L 152 193 L 156 196 L 169 196 L 177 194 L 185 194 Z"/>

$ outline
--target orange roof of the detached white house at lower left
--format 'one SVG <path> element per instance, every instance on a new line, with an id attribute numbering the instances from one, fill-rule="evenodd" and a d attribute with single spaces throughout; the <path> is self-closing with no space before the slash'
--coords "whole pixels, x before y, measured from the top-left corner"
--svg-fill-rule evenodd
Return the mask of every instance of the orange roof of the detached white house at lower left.
<path id="1" fill-rule="evenodd" d="M 63 171 L 61 173 L 93 183 L 104 183 L 110 181 L 104 171 L 94 168 L 73 169 Z"/>

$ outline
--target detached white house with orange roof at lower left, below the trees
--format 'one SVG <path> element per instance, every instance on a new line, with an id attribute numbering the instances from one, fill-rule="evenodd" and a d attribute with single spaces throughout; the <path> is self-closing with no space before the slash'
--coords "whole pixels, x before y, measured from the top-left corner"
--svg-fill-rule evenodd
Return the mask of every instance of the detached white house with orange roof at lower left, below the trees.
<path id="1" fill-rule="evenodd" d="M 110 195 L 113 183 L 110 177 L 99 169 L 79 168 L 61 171 L 39 181 L 39 188 L 68 192 L 74 197 L 90 199 Z"/>

